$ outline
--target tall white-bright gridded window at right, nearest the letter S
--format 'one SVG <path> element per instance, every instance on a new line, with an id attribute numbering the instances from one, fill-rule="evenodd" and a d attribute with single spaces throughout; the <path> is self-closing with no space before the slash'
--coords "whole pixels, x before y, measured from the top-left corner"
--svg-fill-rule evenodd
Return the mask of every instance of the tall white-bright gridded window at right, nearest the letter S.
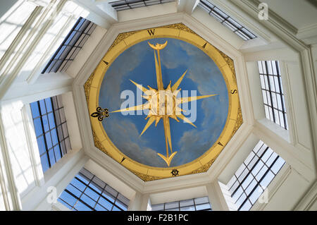
<path id="1" fill-rule="evenodd" d="M 287 130 L 280 64 L 278 61 L 259 61 L 258 65 L 266 118 Z"/>

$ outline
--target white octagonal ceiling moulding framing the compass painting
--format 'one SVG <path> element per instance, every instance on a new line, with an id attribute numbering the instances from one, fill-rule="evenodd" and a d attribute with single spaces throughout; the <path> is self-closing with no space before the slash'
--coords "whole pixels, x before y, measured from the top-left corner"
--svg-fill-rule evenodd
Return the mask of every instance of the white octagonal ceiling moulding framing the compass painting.
<path id="1" fill-rule="evenodd" d="M 89 114 L 87 109 L 87 102 L 83 85 L 92 74 L 97 64 L 106 54 L 107 49 L 111 46 L 117 35 L 122 32 L 129 32 L 131 30 L 141 30 L 146 28 L 154 28 L 161 25 L 168 25 L 173 23 L 184 23 L 201 35 L 206 41 L 213 44 L 215 47 L 228 54 L 230 58 L 235 62 L 235 70 L 237 76 L 237 85 L 240 90 L 240 102 L 242 105 L 242 114 L 244 116 L 244 123 L 237 131 L 236 135 L 230 140 L 225 150 L 220 154 L 217 160 L 214 162 L 212 169 L 209 169 L 206 173 L 192 174 L 187 176 L 178 176 L 175 178 L 166 178 L 158 181 L 144 182 L 135 174 L 125 169 L 123 166 L 115 162 L 111 157 L 104 154 L 94 146 L 92 137 L 92 128 L 90 125 Z M 73 65 L 76 66 L 76 65 Z M 91 157 L 97 164 L 104 166 L 111 174 L 116 176 L 120 181 L 123 181 L 128 186 L 134 188 L 140 193 L 153 193 L 164 190 L 188 188 L 194 186 L 205 185 L 210 183 L 213 179 L 216 179 L 223 167 L 228 164 L 235 153 L 239 150 L 240 145 L 244 139 L 251 132 L 251 124 L 254 121 L 253 114 L 251 112 L 251 99 L 249 99 L 249 88 L 247 82 L 247 75 L 245 71 L 244 61 L 240 51 L 232 47 L 231 44 L 225 42 L 223 38 L 218 37 L 212 30 L 206 29 L 204 25 L 199 23 L 196 19 L 188 16 L 186 13 L 174 13 L 168 16 L 157 16 L 154 18 L 139 19 L 124 23 L 118 23 L 113 25 L 108 32 L 101 39 L 101 42 L 97 44 L 92 54 L 89 56 L 85 63 L 82 63 L 81 69 L 76 75 L 73 83 L 73 91 L 75 98 L 75 107 L 78 113 L 78 119 L 80 123 L 80 133 L 82 135 L 82 142 L 85 148 L 86 154 Z"/>

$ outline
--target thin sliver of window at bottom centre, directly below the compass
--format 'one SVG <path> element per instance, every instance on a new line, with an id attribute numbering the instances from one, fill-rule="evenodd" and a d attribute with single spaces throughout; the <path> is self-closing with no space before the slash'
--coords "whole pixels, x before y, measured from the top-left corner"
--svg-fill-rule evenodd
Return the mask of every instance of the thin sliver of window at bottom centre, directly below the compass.
<path id="1" fill-rule="evenodd" d="M 209 197 L 151 205 L 151 211 L 211 211 Z"/>

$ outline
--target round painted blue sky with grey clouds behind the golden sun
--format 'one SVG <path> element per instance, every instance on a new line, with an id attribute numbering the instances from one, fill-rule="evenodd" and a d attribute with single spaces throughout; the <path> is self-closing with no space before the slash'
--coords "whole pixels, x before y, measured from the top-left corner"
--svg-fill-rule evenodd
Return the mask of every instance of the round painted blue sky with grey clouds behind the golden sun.
<path id="1" fill-rule="evenodd" d="M 197 119 L 193 121 L 197 128 L 170 118 L 173 152 L 178 152 L 170 166 L 180 166 L 200 157 L 218 139 L 228 116 L 228 90 L 223 75 L 204 51 L 173 38 L 149 39 L 149 42 L 163 44 L 166 40 L 167 47 L 160 51 L 164 87 L 167 87 L 170 80 L 173 85 L 187 70 L 180 84 L 182 90 L 188 90 L 189 95 L 191 90 L 197 90 L 197 95 L 218 94 L 197 100 Z M 154 50 L 147 42 L 139 42 L 130 47 L 108 68 L 99 93 L 100 107 L 108 108 L 109 111 L 120 109 L 121 103 L 125 101 L 120 99 L 123 90 L 134 92 L 135 105 L 138 104 L 137 88 L 130 80 L 144 87 L 149 85 L 157 88 Z M 189 103 L 189 109 L 194 104 Z M 147 166 L 166 167 L 166 162 L 157 154 L 166 155 L 162 121 L 157 127 L 152 124 L 139 137 L 147 123 L 146 117 L 144 114 L 123 116 L 121 113 L 113 113 L 102 123 L 108 137 L 123 154 Z"/>

